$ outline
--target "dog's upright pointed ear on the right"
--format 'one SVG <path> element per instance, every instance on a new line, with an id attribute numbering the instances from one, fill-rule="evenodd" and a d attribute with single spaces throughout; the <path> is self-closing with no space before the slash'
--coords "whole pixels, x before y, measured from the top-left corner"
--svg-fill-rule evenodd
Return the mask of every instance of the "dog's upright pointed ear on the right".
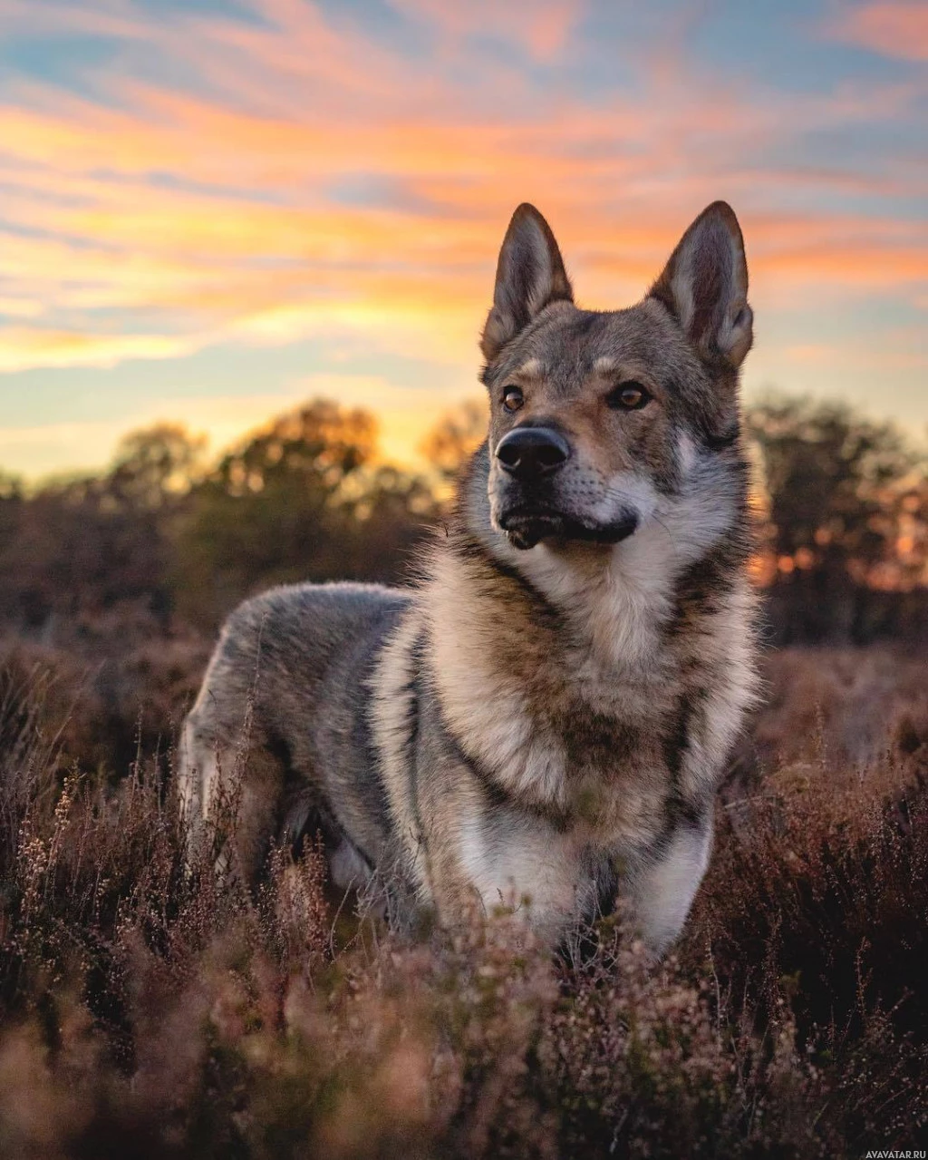
<path id="1" fill-rule="evenodd" d="M 747 305 L 747 262 L 735 211 L 713 202 L 680 239 L 651 287 L 708 362 L 738 368 L 751 349 L 754 316 Z"/>

